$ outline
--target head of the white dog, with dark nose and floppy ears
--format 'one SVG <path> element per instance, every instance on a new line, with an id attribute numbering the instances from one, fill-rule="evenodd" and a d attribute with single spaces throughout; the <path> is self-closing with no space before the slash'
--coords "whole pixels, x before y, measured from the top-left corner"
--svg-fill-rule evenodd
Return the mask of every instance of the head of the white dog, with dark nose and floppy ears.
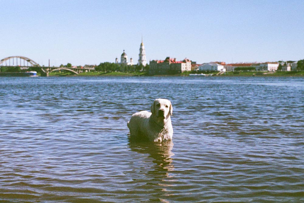
<path id="1" fill-rule="evenodd" d="M 160 120 L 172 116 L 173 108 L 171 102 L 166 99 L 156 99 L 151 105 L 151 113 Z"/>

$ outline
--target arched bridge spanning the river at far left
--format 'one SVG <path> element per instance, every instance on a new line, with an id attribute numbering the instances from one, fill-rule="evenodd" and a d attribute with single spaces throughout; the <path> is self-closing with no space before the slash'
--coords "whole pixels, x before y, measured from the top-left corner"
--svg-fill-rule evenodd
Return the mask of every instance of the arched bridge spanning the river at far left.
<path id="1" fill-rule="evenodd" d="M 50 72 L 53 71 L 57 71 L 57 70 L 67 70 L 70 72 L 73 72 L 75 74 L 79 74 L 80 72 L 83 72 L 83 70 L 94 70 L 94 68 L 92 67 L 49 67 L 49 66 L 41 66 L 38 63 L 36 63 L 35 61 L 33 61 L 30 58 L 24 57 L 24 56 L 10 56 L 10 57 L 6 57 L 1 59 L 0 61 L 0 68 L 1 66 L 5 66 L 5 67 L 23 67 L 23 68 L 29 68 L 29 67 L 38 67 L 41 68 L 42 72 L 44 74 L 41 75 L 45 75 L 45 76 L 49 76 Z"/>

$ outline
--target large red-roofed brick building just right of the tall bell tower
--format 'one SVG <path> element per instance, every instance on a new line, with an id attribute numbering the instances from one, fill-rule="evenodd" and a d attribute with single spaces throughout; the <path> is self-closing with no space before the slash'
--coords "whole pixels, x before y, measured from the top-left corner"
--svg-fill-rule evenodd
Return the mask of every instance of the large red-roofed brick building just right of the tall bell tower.
<path id="1" fill-rule="evenodd" d="M 167 57 L 164 61 L 150 61 L 150 74 L 178 74 L 191 71 L 191 60 L 185 58 L 183 61 L 176 61 L 176 58 Z"/>

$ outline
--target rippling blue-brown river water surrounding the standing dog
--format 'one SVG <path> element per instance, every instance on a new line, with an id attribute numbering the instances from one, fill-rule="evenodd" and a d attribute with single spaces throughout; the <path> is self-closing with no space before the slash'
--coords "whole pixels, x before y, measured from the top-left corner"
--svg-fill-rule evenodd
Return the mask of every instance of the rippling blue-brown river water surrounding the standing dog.
<path id="1" fill-rule="evenodd" d="M 0 79 L 0 202 L 304 202 L 304 78 Z M 172 141 L 130 142 L 156 98 Z"/>

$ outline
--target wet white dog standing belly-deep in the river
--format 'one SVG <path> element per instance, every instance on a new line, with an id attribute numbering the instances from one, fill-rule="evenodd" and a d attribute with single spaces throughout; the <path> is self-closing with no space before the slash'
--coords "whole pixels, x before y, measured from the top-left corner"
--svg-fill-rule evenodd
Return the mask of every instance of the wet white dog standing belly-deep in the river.
<path id="1" fill-rule="evenodd" d="M 171 124 L 172 105 L 169 100 L 156 99 L 151 106 L 151 112 L 140 111 L 132 115 L 128 122 L 130 137 L 161 142 L 172 139 Z"/>

